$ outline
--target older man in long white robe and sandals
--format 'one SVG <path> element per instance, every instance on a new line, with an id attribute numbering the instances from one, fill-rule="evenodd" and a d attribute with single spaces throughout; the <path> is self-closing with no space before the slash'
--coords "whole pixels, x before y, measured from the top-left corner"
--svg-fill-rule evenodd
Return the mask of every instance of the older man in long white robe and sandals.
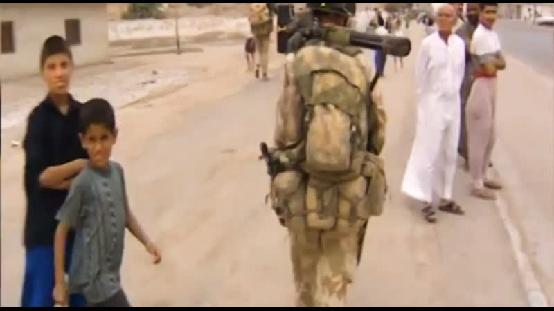
<path id="1" fill-rule="evenodd" d="M 436 10 L 438 31 L 422 41 L 417 69 L 418 119 L 402 192 L 423 202 L 425 220 L 436 221 L 438 209 L 464 214 L 452 200 L 460 133 L 460 86 L 465 44 L 453 33 L 456 11 L 449 4 Z"/>

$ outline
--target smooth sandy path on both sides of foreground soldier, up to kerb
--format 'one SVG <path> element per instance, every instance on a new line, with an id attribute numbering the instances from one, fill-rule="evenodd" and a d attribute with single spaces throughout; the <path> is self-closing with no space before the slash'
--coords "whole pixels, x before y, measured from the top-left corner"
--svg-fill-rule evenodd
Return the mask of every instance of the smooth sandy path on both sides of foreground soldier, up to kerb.
<path id="1" fill-rule="evenodd" d="M 240 51 L 227 55 L 242 59 Z M 467 174 L 458 173 L 454 191 L 465 217 L 440 214 L 430 225 L 400 194 L 415 128 L 414 55 L 402 72 L 389 66 L 383 80 L 391 200 L 370 221 L 351 305 L 524 306 L 506 231 L 492 203 L 467 195 Z M 117 160 L 133 208 L 164 255 L 162 265 L 151 267 L 143 247 L 129 239 L 123 279 L 134 305 L 292 305 L 287 236 L 263 203 L 268 178 L 257 159 L 259 142 L 273 131 L 279 73 L 206 101 L 214 89 L 244 80 L 242 62 L 225 66 L 233 70 L 118 111 Z M 137 122 L 143 126 L 132 126 Z M 4 190 L 14 195 L 3 198 L 3 207 L 21 207 L 21 154 L 10 153 Z M 1 228 L 3 305 L 17 305 L 19 297 L 22 214 L 3 210 L 9 220 Z"/>

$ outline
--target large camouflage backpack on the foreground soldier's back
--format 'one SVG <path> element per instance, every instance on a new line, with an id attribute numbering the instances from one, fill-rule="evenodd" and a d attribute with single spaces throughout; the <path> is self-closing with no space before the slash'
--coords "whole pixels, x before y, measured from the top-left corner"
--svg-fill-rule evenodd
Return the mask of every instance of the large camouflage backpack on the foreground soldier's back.
<path id="1" fill-rule="evenodd" d="M 355 59 L 358 53 L 358 48 L 314 44 L 294 57 L 294 83 L 305 106 L 301 167 L 320 180 L 342 182 L 361 173 L 370 86 Z"/>

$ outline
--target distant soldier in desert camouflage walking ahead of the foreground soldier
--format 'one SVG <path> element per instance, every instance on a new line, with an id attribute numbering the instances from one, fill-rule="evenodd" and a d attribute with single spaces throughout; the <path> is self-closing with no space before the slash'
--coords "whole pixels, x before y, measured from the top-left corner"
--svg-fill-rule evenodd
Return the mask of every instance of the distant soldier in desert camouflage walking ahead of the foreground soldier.
<path id="1" fill-rule="evenodd" d="M 256 64 L 256 78 L 260 77 L 260 66 L 262 78 L 267 81 L 267 66 L 269 64 L 269 41 L 273 32 L 274 8 L 269 3 L 250 3 L 249 23 L 256 51 L 258 52 L 258 64 Z"/>

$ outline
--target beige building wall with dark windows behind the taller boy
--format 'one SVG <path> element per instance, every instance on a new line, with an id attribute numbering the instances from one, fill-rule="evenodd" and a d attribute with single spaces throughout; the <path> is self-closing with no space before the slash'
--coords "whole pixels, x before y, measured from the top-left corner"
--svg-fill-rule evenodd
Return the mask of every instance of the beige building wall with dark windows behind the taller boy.
<path id="1" fill-rule="evenodd" d="M 13 21 L 15 53 L 0 55 L 0 77 L 39 73 L 42 43 L 51 35 L 65 37 L 65 19 L 80 19 L 81 44 L 71 46 L 77 66 L 108 59 L 106 3 L 1 3 L 0 21 Z"/>

